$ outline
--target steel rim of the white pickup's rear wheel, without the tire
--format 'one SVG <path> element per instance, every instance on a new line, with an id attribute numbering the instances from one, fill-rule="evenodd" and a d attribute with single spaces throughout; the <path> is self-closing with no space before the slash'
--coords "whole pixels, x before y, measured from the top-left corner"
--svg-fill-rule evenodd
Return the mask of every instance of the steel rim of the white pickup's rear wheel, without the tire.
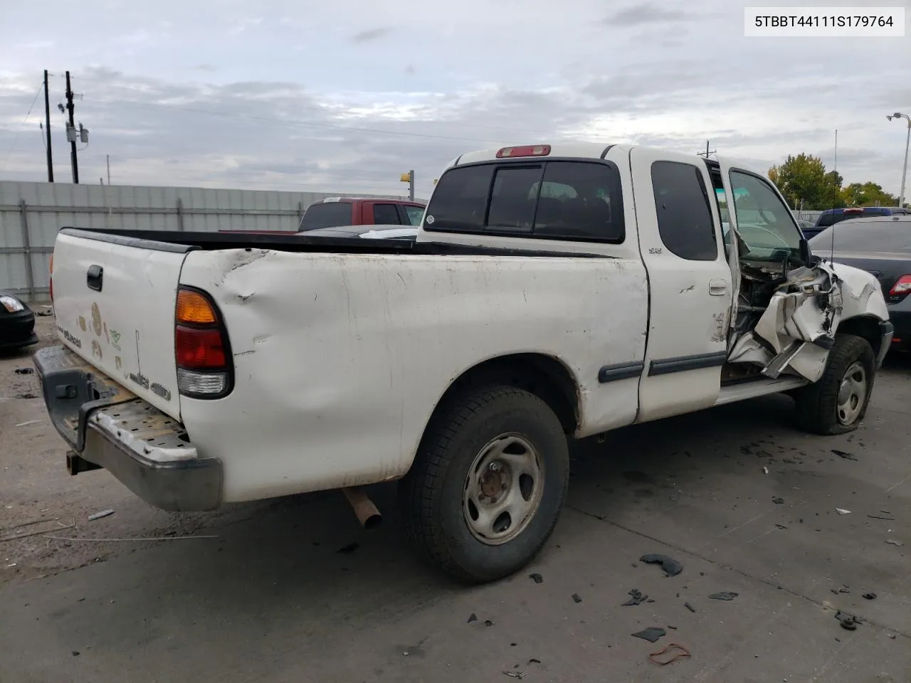
<path id="1" fill-rule="evenodd" d="M 491 439 L 466 474 L 462 515 L 468 531 L 486 545 L 508 543 L 527 528 L 544 493 L 544 463 L 516 433 Z"/>

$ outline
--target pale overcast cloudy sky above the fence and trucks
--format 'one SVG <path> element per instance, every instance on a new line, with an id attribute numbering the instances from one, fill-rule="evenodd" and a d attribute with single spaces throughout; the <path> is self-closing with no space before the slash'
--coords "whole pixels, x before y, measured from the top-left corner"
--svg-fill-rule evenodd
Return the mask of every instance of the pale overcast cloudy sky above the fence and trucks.
<path id="1" fill-rule="evenodd" d="M 0 179 L 46 179 L 45 68 L 58 181 L 67 69 L 83 182 L 110 155 L 114 184 L 400 194 L 415 168 L 427 196 L 463 152 L 558 138 L 692 153 L 710 138 L 763 169 L 804 151 L 831 168 L 836 128 L 845 182 L 897 194 L 901 178 L 905 130 L 885 114 L 911 113 L 911 30 L 746 38 L 759 3 L 741 0 L 3 5 Z"/>

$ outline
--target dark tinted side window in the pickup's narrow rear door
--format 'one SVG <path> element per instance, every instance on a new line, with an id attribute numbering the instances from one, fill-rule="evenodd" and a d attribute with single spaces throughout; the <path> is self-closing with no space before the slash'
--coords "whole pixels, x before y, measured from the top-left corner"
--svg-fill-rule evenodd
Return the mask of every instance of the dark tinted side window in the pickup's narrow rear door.
<path id="1" fill-rule="evenodd" d="M 681 259 L 717 259 L 709 194 L 699 168 L 678 161 L 656 161 L 651 165 L 651 185 L 664 245 Z"/>

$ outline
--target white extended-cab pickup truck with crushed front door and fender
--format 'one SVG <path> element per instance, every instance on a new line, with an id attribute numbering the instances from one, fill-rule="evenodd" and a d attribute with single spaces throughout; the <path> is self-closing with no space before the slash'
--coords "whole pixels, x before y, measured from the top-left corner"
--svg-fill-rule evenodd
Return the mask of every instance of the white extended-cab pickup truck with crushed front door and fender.
<path id="1" fill-rule="evenodd" d="M 343 489 L 362 521 L 400 480 L 407 535 L 475 582 L 547 541 L 569 438 L 773 392 L 843 433 L 892 336 L 761 174 L 589 143 L 456 158 L 414 243 L 65 228 L 53 293 L 71 473 L 168 510 Z"/>

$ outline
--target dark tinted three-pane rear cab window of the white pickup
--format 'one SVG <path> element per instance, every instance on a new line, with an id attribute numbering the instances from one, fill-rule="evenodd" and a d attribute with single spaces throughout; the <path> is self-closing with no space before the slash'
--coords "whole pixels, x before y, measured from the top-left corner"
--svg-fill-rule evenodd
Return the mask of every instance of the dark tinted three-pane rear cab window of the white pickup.
<path id="1" fill-rule="evenodd" d="M 451 168 L 437 183 L 425 227 L 619 243 L 624 238 L 619 172 L 607 162 L 585 161 Z"/>

